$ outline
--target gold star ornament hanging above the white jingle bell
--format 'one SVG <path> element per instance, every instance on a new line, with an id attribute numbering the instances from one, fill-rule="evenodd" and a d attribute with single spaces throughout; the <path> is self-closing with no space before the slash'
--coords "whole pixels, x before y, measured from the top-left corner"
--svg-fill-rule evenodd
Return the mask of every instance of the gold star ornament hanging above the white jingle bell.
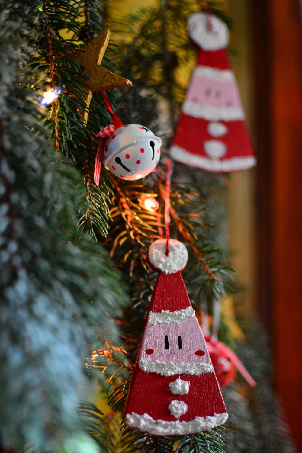
<path id="1" fill-rule="evenodd" d="M 105 30 L 95 39 L 81 47 L 81 52 L 68 52 L 69 56 L 84 67 L 84 74 L 89 78 L 77 80 L 81 88 L 85 90 L 84 100 L 87 109 L 81 111 L 85 123 L 88 120 L 88 110 L 92 93 L 97 91 L 112 90 L 112 88 L 131 87 L 132 82 L 120 77 L 101 66 L 105 50 L 108 46 L 110 31 Z"/>

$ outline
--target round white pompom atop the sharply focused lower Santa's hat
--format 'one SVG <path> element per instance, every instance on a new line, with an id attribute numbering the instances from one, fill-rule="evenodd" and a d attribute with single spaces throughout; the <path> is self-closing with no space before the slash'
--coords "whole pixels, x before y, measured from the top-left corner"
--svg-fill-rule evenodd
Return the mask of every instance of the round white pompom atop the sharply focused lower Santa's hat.
<path id="1" fill-rule="evenodd" d="M 165 274 L 175 274 L 184 269 L 188 260 L 187 248 L 176 239 L 169 239 L 169 254 L 166 255 L 166 239 L 158 239 L 149 247 L 149 260 L 156 269 Z"/>

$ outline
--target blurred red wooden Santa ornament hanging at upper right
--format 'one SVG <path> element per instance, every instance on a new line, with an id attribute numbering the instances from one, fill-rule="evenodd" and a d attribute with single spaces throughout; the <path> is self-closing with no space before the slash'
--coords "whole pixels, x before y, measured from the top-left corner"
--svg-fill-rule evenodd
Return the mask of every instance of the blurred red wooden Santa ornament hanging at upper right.
<path id="1" fill-rule="evenodd" d="M 216 16 L 195 13 L 189 17 L 187 28 L 200 48 L 171 157 L 210 172 L 249 169 L 256 159 L 235 75 L 225 53 L 228 27 Z"/>

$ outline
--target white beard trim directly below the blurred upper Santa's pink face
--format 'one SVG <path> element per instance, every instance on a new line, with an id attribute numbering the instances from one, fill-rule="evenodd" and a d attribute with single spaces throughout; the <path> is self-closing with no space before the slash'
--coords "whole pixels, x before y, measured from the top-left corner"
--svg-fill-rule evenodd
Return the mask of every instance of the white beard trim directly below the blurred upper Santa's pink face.
<path id="1" fill-rule="evenodd" d="M 203 118 L 207 121 L 238 121 L 245 118 L 241 107 L 215 107 L 207 104 L 197 104 L 192 101 L 184 101 L 182 113 L 194 118 Z"/>

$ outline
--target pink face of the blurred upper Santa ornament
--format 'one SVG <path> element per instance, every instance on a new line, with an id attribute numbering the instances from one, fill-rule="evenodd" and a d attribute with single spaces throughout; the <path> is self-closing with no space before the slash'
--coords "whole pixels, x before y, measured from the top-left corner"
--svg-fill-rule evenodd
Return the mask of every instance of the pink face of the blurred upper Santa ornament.
<path id="1" fill-rule="evenodd" d="M 192 76 L 186 100 L 214 107 L 241 107 L 235 82 L 211 80 L 197 75 Z"/>

